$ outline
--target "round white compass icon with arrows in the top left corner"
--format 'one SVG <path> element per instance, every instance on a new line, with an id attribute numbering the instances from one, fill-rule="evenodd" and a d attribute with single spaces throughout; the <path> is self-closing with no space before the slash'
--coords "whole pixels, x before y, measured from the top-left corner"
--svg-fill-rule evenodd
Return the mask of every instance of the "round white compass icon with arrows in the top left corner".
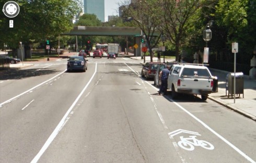
<path id="1" fill-rule="evenodd" d="M 4 4 L 2 11 L 8 18 L 14 18 L 19 14 L 19 5 L 14 1 L 8 1 Z"/>

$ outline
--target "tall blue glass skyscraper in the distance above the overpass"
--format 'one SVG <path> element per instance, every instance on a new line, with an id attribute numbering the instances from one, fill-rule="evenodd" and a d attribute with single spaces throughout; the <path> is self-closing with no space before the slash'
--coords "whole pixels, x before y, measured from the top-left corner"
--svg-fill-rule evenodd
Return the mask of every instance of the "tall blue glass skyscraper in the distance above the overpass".
<path id="1" fill-rule="evenodd" d="M 97 18 L 105 21 L 105 8 L 104 0 L 84 0 L 85 14 L 95 14 Z"/>

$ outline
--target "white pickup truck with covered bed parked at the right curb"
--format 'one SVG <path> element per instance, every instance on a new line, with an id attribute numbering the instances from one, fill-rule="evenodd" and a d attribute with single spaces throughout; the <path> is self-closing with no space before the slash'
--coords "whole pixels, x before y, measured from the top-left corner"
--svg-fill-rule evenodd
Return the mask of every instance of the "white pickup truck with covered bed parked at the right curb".
<path id="1" fill-rule="evenodd" d="M 213 77 L 205 66 L 177 64 L 170 70 L 167 88 L 171 90 L 173 99 L 179 93 L 185 93 L 199 94 L 206 100 L 213 90 Z"/>

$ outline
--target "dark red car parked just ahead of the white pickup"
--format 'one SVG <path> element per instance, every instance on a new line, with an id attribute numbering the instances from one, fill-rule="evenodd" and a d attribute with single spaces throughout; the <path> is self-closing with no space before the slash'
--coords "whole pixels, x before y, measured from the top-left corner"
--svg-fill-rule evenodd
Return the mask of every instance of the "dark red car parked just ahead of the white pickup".
<path id="1" fill-rule="evenodd" d="M 142 77 L 146 77 L 146 79 L 154 79 L 156 70 L 160 64 L 160 62 L 146 62 L 142 65 Z"/>

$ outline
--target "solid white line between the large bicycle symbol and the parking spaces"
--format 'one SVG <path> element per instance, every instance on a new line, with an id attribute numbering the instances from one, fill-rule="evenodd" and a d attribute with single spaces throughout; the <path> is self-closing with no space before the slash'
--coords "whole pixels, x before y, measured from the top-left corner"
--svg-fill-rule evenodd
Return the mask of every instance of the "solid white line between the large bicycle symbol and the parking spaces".
<path id="1" fill-rule="evenodd" d="M 126 64 L 125 64 L 126 65 Z M 127 66 L 127 65 L 126 65 Z M 129 67 L 129 66 L 127 66 Z M 129 67 L 131 70 L 132 68 Z M 134 70 L 132 70 L 133 72 L 135 72 Z M 149 82 L 145 81 L 146 83 L 148 83 L 148 85 L 152 86 L 155 90 L 158 90 L 155 86 L 153 86 L 152 84 L 150 84 Z M 245 153 L 243 153 L 240 149 L 238 149 L 235 145 L 231 144 L 228 140 L 226 140 L 222 135 L 218 134 L 216 131 L 214 131 L 212 128 L 210 128 L 209 126 L 207 126 L 206 123 L 204 123 L 203 121 L 201 121 L 199 118 L 195 117 L 191 112 L 189 112 L 188 110 L 186 110 L 185 108 L 183 108 L 182 106 L 180 106 L 178 103 L 174 102 L 171 98 L 168 97 L 168 99 L 173 102 L 175 105 L 177 105 L 180 109 L 182 109 L 183 111 L 185 111 L 188 115 L 190 115 L 192 118 L 194 118 L 196 121 L 198 121 L 199 123 L 201 123 L 206 129 L 210 130 L 213 134 L 215 134 L 217 137 L 219 137 L 219 139 L 221 139 L 222 141 L 224 141 L 226 144 L 228 144 L 231 148 L 235 149 L 236 152 L 238 152 L 241 156 L 243 156 L 244 158 L 246 158 L 248 161 L 252 162 L 252 163 L 256 163 L 253 159 L 251 159 L 249 156 L 247 156 Z M 161 120 L 161 119 L 160 119 Z M 175 145 L 175 144 L 173 144 Z"/>

